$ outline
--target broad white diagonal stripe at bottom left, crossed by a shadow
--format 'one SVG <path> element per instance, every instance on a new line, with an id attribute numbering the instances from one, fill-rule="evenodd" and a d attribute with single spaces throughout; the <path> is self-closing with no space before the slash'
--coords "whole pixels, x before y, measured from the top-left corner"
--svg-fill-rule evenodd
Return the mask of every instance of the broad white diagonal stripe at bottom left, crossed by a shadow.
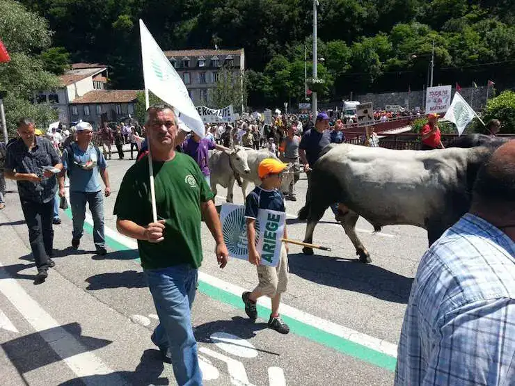
<path id="1" fill-rule="evenodd" d="M 0 292 L 15 306 L 31 326 L 40 333 L 54 352 L 86 385 L 97 385 L 93 376 L 104 375 L 105 385 L 125 385 L 125 381 L 113 372 L 88 348 L 82 346 L 68 331 L 61 327 L 45 309 L 29 296 L 18 282 L 11 278 L 0 263 Z M 79 354 L 77 354 L 79 353 Z M 91 378 L 87 378 L 91 377 Z"/>

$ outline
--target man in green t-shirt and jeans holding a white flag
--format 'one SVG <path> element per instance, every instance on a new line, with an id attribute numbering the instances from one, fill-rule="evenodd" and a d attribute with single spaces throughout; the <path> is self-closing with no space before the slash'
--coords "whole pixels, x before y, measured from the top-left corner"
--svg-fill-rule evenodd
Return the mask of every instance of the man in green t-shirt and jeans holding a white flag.
<path id="1" fill-rule="evenodd" d="M 169 106 L 147 111 L 158 222 L 152 220 L 148 158 L 123 177 L 114 214 L 118 232 L 138 240 L 141 266 L 159 316 L 152 341 L 173 365 L 179 385 L 201 385 L 197 342 L 191 327 L 198 267 L 202 263 L 200 222 L 204 218 L 216 241 L 220 268 L 228 262 L 213 193 L 196 162 L 175 152 L 177 118 Z"/>

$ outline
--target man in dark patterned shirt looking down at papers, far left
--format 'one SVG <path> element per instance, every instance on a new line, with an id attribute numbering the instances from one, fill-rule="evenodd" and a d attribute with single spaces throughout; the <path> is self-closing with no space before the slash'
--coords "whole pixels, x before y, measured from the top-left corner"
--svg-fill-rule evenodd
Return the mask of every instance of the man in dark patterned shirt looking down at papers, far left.
<path id="1" fill-rule="evenodd" d="M 56 177 L 48 170 L 54 167 L 61 171 L 61 159 L 52 143 L 35 136 L 34 122 L 21 118 L 17 128 L 19 138 L 7 147 L 4 173 L 17 182 L 19 200 L 29 227 L 29 242 L 38 268 L 36 283 L 48 277 L 48 268 L 55 266 L 50 259 L 54 248 L 54 200 Z"/>

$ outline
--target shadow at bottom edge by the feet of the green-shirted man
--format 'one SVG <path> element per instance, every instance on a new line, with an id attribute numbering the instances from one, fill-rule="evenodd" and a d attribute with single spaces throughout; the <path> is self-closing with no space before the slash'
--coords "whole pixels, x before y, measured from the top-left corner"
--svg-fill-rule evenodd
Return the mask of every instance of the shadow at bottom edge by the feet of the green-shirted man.
<path id="1" fill-rule="evenodd" d="M 59 386 L 113 385 L 115 378 L 122 378 L 129 385 L 169 385 L 168 378 L 161 377 L 164 365 L 159 350 L 145 350 L 134 371 L 116 371 L 114 373 L 75 378 L 59 384 Z"/>

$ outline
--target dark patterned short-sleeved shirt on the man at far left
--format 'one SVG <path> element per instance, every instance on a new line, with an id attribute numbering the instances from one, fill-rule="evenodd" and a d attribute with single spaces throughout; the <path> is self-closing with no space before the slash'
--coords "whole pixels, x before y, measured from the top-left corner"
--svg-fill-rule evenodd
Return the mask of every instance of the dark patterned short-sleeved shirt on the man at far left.
<path id="1" fill-rule="evenodd" d="M 5 168 L 18 173 L 34 173 L 42 176 L 43 166 L 56 166 L 61 163 L 52 143 L 46 138 L 35 137 L 35 146 L 29 152 L 22 138 L 7 147 Z M 18 181 L 19 200 L 41 204 L 54 200 L 57 191 L 56 176 L 43 178 L 41 182 Z"/>

